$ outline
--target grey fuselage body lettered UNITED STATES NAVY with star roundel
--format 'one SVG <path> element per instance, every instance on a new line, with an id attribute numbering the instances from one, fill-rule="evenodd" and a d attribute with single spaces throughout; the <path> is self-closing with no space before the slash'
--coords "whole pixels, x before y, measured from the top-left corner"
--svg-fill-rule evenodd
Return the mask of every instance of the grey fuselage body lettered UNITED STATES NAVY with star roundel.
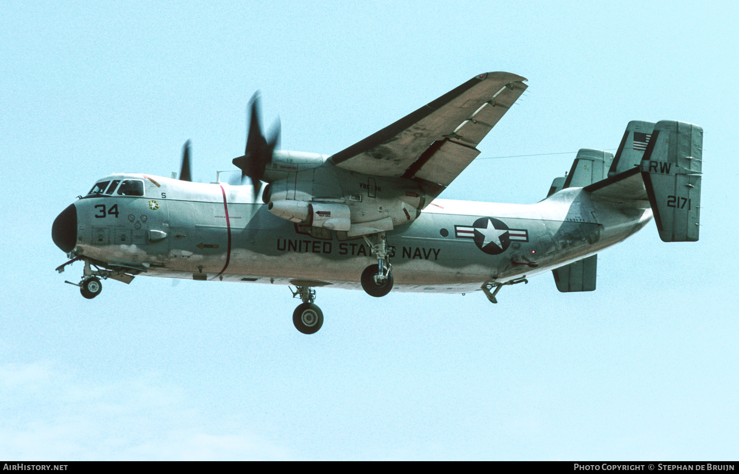
<path id="1" fill-rule="evenodd" d="M 377 262 L 364 238 L 274 216 L 251 186 L 143 174 L 103 180 L 116 179 L 143 181 L 143 196 L 75 202 L 73 255 L 140 275 L 352 289 Z M 616 244 L 651 218 L 648 202 L 607 202 L 582 188 L 532 205 L 435 199 L 387 233 L 394 289 L 471 292 L 536 275 Z"/>

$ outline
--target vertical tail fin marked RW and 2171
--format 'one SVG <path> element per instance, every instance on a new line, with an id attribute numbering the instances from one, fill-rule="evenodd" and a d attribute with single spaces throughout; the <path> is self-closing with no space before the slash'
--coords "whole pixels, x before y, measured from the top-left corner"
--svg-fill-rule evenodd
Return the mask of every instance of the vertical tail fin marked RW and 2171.
<path id="1" fill-rule="evenodd" d="M 639 169 L 662 241 L 698 240 L 702 159 L 703 128 L 675 120 L 655 125 Z"/>

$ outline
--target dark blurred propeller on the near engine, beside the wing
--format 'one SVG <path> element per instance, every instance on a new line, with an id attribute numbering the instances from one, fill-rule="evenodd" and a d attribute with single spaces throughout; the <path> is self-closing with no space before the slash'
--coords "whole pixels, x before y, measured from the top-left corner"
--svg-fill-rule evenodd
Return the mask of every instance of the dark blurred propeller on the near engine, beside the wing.
<path id="1" fill-rule="evenodd" d="M 279 142 L 280 124 L 279 118 L 270 130 L 270 136 L 265 137 L 262 134 L 262 125 L 259 120 L 259 92 L 255 92 L 251 96 L 251 114 L 249 117 L 248 132 L 246 135 L 246 148 L 241 157 L 234 158 L 234 165 L 241 169 L 242 182 L 249 176 L 251 185 L 254 189 L 254 198 L 259 195 L 262 188 L 262 176 L 265 175 L 265 168 L 272 161 L 272 154 Z"/>

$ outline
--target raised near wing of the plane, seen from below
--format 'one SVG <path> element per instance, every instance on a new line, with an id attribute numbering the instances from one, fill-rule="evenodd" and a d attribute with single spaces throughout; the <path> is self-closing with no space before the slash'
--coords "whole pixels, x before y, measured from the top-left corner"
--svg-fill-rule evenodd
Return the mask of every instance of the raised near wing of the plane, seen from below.
<path id="1" fill-rule="evenodd" d="M 339 151 L 330 162 L 348 171 L 446 187 L 480 154 L 475 147 L 526 89 L 524 80 L 510 72 L 478 75 Z"/>

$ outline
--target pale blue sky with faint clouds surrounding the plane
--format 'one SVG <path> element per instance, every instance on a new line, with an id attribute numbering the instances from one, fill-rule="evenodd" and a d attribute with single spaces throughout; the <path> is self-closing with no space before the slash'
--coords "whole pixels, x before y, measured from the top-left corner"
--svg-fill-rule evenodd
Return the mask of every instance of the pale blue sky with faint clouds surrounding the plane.
<path id="1" fill-rule="evenodd" d="M 5 186 L 0 457 L 732 459 L 739 435 L 738 7 L 729 2 L 11 1 L 0 6 Z M 262 91 L 282 148 L 331 154 L 480 72 L 528 78 L 484 157 L 616 148 L 629 120 L 702 126 L 701 240 L 654 224 L 480 293 L 136 278 L 81 298 L 54 217 L 96 178 L 194 179 L 242 153 Z M 443 193 L 536 202 L 574 154 L 478 159 Z"/>

